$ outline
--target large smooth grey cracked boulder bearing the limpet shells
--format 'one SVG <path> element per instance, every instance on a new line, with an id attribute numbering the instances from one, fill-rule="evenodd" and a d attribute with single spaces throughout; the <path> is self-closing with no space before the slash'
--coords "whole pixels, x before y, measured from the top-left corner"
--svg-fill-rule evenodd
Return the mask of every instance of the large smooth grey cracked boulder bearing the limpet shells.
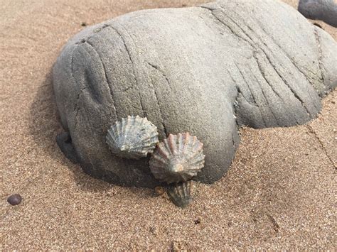
<path id="1" fill-rule="evenodd" d="M 145 187 L 158 184 L 149 159 L 118 158 L 105 143 L 114 121 L 146 116 L 160 141 L 197 136 L 205 167 L 196 179 L 214 182 L 230 166 L 238 126 L 304 124 L 336 84 L 333 38 L 290 6 L 264 0 L 119 16 L 75 35 L 53 72 L 74 147 L 68 139 L 63 150 L 95 177 Z"/>

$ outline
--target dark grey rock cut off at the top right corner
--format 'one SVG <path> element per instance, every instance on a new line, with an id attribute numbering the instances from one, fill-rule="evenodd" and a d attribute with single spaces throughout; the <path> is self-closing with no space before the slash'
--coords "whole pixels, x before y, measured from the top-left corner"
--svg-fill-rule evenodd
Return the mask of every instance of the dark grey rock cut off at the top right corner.
<path id="1" fill-rule="evenodd" d="M 299 12 L 337 27 L 337 0 L 299 0 Z"/>

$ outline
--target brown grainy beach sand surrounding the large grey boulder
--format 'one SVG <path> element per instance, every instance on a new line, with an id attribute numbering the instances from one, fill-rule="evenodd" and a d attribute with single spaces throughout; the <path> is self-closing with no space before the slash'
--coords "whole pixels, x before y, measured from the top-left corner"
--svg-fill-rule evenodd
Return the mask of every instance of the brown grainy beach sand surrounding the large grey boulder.
<path id="1" fill-rule="evenodd" d="M 0 1 L 0 248 L 336 248 L 337 92 L 306 126 L 243 128 L 228 175 L 187 209 L 92 179 L 58 149 L 50 70 L 81 23 L 202 2 Z"/>

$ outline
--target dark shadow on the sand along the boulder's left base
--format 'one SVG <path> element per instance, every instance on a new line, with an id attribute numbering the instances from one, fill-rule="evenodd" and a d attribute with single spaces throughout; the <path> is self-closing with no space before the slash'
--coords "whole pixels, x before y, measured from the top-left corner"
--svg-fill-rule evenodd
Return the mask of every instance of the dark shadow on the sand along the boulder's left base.
<path id="1" fill-rule="evenodd" d="M 109 182 L 87 175 L 80 168 L 80 164 L 72 163 L 65 157 L 56 143 L 56 137 L 65 131 L 60 123 L 60 116 L 55 102 L 52 69 L 48 72 L 40 87 L 38 87 L 36 97 L 30 107 L 30 114 L 31 120 L 28 124 L 28 131 L 33 136 L 40 153 L 47 155 L 57 163 L 67 166 L 73 172 L 75 183 L 81 190 L 104 192 L 114 186 Z M 133 187 L 129 187 L 129 190 L 137 193 L 137 190 Z M 144 196 L 144 193 L 142 195 Z M 151 195 L 151 190 L 146 196 L 153 196 Z"/>

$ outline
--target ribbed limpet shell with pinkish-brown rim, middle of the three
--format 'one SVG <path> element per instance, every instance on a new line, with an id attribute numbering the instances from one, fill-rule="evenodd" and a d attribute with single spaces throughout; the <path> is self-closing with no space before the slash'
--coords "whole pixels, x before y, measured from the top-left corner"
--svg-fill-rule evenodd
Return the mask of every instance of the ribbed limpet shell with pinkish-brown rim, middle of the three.
<path id="1" fill-rule="evenodd" d="M 156 179 L 172 183 L 190 180 L 204 163 L 203 143 L 189 133 L 178 133 L 157 144 L 149 165 Z"/>

